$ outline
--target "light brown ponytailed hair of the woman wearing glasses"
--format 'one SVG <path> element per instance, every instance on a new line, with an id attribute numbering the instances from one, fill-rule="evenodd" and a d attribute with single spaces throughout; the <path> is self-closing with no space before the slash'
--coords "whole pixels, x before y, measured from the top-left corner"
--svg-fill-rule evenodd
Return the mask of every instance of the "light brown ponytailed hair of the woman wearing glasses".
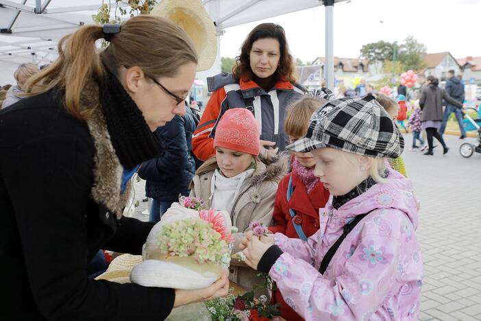
<path id="1" fill-rule="evenodd" d="M 95 107 L 82 106 L 80 97 L 86 86 L 103 80 L 102 64 L 115 75 L 121 67 L 137 66 L 152 78 L 173 77 L 182 65 L 197 64 L 197 52 L 184 30 L 158 16 L 129 19 L 99 53 L 95 42 L 103 36 L 103 27 L 98 25 L 86 25 L 64 36 L 58 43 L 58 59 L 27 82 L 28 95 L 53 88 L 64 91 L 66 110 L 86 120 Z"/>

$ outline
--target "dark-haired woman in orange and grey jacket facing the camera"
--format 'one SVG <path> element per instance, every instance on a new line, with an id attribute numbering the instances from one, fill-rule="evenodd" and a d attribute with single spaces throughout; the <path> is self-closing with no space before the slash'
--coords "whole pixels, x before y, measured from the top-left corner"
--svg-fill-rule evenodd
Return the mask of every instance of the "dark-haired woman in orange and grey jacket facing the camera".
<path id="1" fill-rule="evenodd" d="M 213 92 L 193 136 L 193 151 L 201 160 L 215 154 L 217 123 L 230 108 L 247 108 L 260 125 L 260 144 L 273 153 L 284 150 L 286 108 L 304 89 L 295 84 L 295 66 L 280 25 L 262 23 L 247 36 L 230 73 L 208 78 Z"/>

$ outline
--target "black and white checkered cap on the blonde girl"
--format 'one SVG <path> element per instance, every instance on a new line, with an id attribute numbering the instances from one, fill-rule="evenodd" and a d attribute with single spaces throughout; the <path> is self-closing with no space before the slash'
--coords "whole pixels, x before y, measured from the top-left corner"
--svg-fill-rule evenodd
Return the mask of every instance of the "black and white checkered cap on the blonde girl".
<path id="1" fill-rule="evenodd" d="M 335 99 L 310 118 L 308 132 L 287 146 L 294 152 L 333 147 L 373 157 L 399 157 L 404 138 L 374 95 Z"/>

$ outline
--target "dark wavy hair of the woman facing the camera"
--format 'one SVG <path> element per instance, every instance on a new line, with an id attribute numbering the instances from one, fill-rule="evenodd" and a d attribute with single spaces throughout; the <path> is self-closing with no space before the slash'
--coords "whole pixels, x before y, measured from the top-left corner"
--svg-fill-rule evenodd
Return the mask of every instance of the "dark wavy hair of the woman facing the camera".
<path id="1" fill-rule="evenodd" d="M 275 69 L 275 78 L 284 78 L 288 82 L 295 82 L 295 67 L 293 62 L 293 56 L 289 53 L 289 47 L 286 40 L 286 33 L 284 28 L 275 23 L 261 23 L 249 33 L 249 36 L 244 40 L 244 43 L 240 49 L 240 55 L 236 57 L 236 66 L 232 74 L 238 81 L 242 77 L 252 79 L 254 73 L 252 72 L 251 65 L 249 63 L 249 53 L 252 49 L 252 44 L 256 40 L 264 38 L 274 38 L 279 41 L 280 47 L 280 59 L 279 67 Z"/>

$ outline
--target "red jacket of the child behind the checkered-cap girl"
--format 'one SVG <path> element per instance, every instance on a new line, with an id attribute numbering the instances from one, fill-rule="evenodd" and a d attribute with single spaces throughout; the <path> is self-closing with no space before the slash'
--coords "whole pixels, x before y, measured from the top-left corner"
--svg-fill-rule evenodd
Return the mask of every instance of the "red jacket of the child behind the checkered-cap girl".
<path id="1" fill-rule="evenodd" d="M 293 177 L 293 195 L 291 200 L 287 202 L 287 187 L 289 185 L 289 178 Z M 318 182 L 314 189 L 307 193 L 304 183 L 297 177 L 297 175 L 290 173 L 284 176 L 279 182 L 277 193 L 275 194 L 273 226 L 269 227 L 272 233 L 282 233 L 287 237 L 299 239 L 297 235 L 289 208 L 295 210 L 296 215 L 301 217 L 302 230 L 307 237 L 310 237 L 319 230 L 319 209 L 322 209 L 329 200 L 329 191 L 324 189 L 322 182 Z M 273 303 L 280 303 L 280 311 L 282 318 L 289 321 L 303 320 L 291 307 L 289 307 L 282 294 L 279 291 L 274 291 L 272 294 Z"/>

